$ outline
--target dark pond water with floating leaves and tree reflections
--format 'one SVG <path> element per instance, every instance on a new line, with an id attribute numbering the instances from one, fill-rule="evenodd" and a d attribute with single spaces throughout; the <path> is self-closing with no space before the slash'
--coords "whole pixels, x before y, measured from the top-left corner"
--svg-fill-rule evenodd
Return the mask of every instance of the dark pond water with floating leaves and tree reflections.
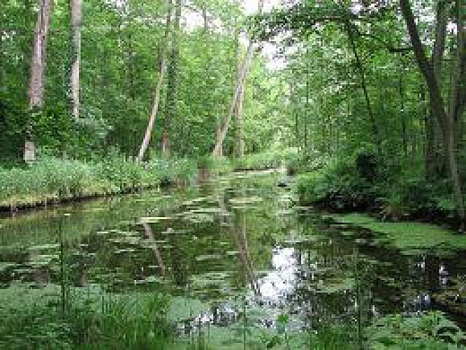
<path id="1" fill-rule="evenodd" d="M 407 255 L 293 205 L 280 176 L 239 174 L 4 218 L 1 288 L 58 284 L 66 269 L 82 288 L 168 291 L 180 334 L 193 323 L 234 325 L 244 312 L 264 329 L 282 315 L 303 330 L 431 308 L 464 321 L 465 300 L 453 293 L 464 252 Z"/>

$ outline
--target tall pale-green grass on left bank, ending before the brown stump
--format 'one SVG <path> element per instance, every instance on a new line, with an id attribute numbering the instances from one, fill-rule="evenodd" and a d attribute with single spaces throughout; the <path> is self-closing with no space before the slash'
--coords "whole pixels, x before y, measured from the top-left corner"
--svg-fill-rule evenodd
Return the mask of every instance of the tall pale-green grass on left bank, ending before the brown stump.
<path id="1" fill-rule="evenodd" d="M 186 159 L 141 164 L 122 157 L 101 162 L 43 158 L 30 167 L 0 168 L 0 207 L 128 193 L 163 183 L 189 182 L 196 176 L 196 162 Z"/>

